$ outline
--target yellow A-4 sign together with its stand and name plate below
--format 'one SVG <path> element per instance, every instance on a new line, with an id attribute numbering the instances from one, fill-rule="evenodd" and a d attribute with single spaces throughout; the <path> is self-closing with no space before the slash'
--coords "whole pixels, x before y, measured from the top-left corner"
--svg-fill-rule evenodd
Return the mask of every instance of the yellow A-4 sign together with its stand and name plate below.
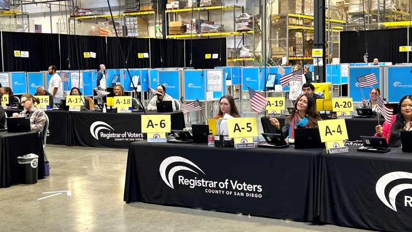
<path id="1" fill-rule="evenodd" d="M 345 119 L 331 119 L 317 122 L 320 140 L 325 143 L 326 151 L 330 154 L 348 152 L 343 140 L 348 139 Z"/>

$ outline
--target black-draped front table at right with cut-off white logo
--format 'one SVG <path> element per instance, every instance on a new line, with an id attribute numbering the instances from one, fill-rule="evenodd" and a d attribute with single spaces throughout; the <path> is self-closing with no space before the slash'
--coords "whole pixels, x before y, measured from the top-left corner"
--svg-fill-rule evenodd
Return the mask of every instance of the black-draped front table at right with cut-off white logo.
<path id="1" fill-rule="evenodd" d="M 321 154 L 319 219 L 368 230 L 412 231 L 412 153 Z"/>

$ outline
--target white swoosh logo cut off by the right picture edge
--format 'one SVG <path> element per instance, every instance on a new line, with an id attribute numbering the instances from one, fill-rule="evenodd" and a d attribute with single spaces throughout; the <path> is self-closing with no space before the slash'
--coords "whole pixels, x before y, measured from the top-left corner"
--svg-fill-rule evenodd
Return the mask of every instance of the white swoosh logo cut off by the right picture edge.
<path id="1" fill-rule="evenodd" d="M 385 189 L 388 186 L 390 182 L 400 180 L 400 179 L 412 179 L 412 173 L 410 172 L 390 172 L 388 174 L 383 175 L 378 182 L 376 182 L 376 195 L 378 195 L 378 198 L 380 201 L 382 201 L 383 204 L 388 206 L 391 210 L 397 212 L 396 209 L 396 197 L 397 195 L 406 189 L 412 189 L 412 184 L 411 183 L 400 183 L 397 184 L 396 186 L 392 187 L 389 190 L 389 194 L 385 194 Z M 389 199 L 389 200 L 388 200 Z M 412 196 L 404 196 L 404 207 L 412 207 Z"/>

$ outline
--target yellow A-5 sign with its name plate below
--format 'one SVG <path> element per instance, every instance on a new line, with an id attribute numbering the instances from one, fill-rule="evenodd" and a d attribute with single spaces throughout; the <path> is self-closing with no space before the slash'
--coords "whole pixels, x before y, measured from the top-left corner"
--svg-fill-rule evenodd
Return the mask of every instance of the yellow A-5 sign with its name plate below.
<path id="1" fill-rule="evenodd" d="M 228 118 L 229 137 L 234 138 L 235 148 L 254 148 L 253 137 L 257 136 L 256 118 Z"/>

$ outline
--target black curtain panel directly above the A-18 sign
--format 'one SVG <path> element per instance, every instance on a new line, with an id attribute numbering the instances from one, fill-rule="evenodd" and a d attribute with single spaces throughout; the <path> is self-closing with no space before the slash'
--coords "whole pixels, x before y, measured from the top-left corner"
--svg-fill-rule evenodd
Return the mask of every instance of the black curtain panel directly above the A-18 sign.
<path id="1" fill-rule="evenodd" d="M 138 53 L 150 53 L 149 39 L 145 38 L 125 38 L 119 37 L 121 48 L 125 57 L 129 51 L 130 54 L 127 59 L 127 67 L 129 68 L 149 68 L 149 58 L 139 58 Z M 106 68 L 125 68 L 125 58 L 119 48 L 118 39 L 115 37 L 107 37 L 107 65 Z"/>

